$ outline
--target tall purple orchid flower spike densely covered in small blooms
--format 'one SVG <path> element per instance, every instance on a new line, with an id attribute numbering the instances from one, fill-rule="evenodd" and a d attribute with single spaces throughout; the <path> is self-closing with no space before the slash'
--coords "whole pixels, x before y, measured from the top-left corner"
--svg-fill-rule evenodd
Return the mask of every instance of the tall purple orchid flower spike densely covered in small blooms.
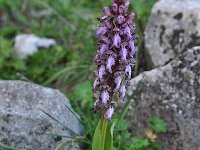
<path id="1" fill-rule="evenodd" d="M 99 49 L 95 57 L 98 71 L 94 81 L 96 102 L 93 107 L 95 112 L 104 112 L 104 119 L 110 121 L 117 104 L 125 102 L 137 50 L 134 45 L 137 39 L 133 23 L 135 14 L 127 13 L 130 0 L 111 0 L 111 3 L 112 7 L 104 7 L 104 16 L 98 19 Z"/>

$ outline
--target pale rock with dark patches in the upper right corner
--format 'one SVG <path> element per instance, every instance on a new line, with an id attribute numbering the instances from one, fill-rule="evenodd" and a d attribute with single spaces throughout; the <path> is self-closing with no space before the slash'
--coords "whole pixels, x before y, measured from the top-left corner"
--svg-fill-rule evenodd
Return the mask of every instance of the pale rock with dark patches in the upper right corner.
<path id="1" fill-rule="evenodd" d="M 160 0 L 151 12 L 145 46 L 155 67 L 200 45 L 200 0 Z"/>

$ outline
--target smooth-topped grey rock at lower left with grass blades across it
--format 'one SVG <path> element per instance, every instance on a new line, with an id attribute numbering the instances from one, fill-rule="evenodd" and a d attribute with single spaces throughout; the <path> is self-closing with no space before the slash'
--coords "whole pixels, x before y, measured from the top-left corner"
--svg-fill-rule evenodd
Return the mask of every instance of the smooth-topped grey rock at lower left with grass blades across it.
<path id="1" fill-rule="evenodd" d="M 80 135 L 80 122 L 64 104 L 71 108 L 58 90 L 23 81 L 0 81 L 0 143 L 20 150 L 54 150 L 66 139 L 47 133 Z"/>

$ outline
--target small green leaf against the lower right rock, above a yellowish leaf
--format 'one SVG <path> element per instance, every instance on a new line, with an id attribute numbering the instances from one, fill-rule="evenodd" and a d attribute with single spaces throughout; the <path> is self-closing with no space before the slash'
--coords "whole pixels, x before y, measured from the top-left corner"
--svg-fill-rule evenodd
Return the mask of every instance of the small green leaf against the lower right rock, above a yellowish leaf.
<path id="1" fill-rule="evenodd" d="M 150 118 L 148 124 L 157 133 L 165 133 L 167 131 L 166 123 L 159 118 Z"/>

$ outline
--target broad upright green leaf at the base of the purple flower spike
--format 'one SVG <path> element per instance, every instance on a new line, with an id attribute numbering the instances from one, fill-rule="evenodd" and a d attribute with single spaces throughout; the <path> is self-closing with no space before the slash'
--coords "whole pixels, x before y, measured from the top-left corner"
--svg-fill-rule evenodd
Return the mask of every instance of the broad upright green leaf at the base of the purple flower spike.
<path id="1" fill-rule="evenodd" d="M 112 150 L 113 149 L 113 131 L 116 121 L 111 124 L 103 117 L 99 121 L 94 133 L 92 150 Z"/>

